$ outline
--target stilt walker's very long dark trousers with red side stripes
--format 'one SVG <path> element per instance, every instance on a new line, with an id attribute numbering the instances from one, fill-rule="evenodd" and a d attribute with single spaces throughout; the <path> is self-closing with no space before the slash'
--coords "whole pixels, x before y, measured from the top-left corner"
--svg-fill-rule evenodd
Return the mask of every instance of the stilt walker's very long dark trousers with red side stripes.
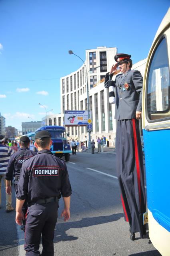
<path id="1" fill-rule="evenodd" d="M 121 190 L 125 220 L 132 232 L 146 234 L 143 213 L 146 212 L 144 169 L 139 121 L 118 120 L 116 128 L 116 169 Z"/>

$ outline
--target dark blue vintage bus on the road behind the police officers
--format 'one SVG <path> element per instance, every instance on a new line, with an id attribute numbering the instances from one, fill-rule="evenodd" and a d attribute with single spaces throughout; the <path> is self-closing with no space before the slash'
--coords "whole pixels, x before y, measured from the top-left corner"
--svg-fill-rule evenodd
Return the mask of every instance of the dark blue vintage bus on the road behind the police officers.
<path id="1" fill-rule="evenodd" d="M 65 157 L 65 161 L 70 160 L 71 148 L 67 142 L 66 128 L 63 126 L 42 126 L 35 131 L 35 134 L 39 131 L 46 130 L 50 132 L 52 138 L 51 151 L 58 157 Z"/>

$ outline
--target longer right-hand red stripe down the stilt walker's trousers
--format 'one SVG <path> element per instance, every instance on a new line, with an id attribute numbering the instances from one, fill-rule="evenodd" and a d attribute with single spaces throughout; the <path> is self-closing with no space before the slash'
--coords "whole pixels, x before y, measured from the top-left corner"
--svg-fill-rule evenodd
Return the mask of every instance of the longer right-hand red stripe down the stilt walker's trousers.
<path id="1" fill-rule="evenodd" d="M 141 188 L 140 188 L 140 165 L 139 165 L 139 154 L 138 154 L 138 143 L 136 136 L 136 124 L 135 119 L 132 119 L 133 124 L 133 132 L 134 132 L 134 148 L 135 148 L 135 160 L 136 160 L 136 171 L 137 171 L 137 179 L 138 179 L 138 191 L 139 191 L 139 201 L 141 206 Z"/>

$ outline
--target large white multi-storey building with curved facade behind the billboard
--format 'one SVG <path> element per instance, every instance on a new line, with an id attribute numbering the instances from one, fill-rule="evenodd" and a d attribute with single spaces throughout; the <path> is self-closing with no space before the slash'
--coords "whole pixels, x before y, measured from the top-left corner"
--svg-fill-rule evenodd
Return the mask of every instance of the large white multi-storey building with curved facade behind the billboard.
<path id="1" fill-rule="evenodd" d="M 106 73 L 110 71 L 117 48 L 97 47 L 86 50 L 85 65 L 78 70 L 60 78 L 61 114 L 47 116 L 47 125 L 63 125 L 64 110 L 87 110 L 87 77 L 89 88 L 89 104 L 92 111 L 91 138 L 106 136 L 110 146 L 114 146 L 116 137 L 116 120 L 114 104 L 109 104 L 108 89 L 104 87 Z M 72 56 L 74 57 L 74 56 Z M 146 59 L 134 64 L 144 76 Z M 87 77 L 86 77 L 87 68 Z M 42 119 L 45 120 L 45 117 Z M 79 129 L 79 130 L 78 130 Z M 86 127 L 67 127 L 70 137 L 84 140 Z"/>

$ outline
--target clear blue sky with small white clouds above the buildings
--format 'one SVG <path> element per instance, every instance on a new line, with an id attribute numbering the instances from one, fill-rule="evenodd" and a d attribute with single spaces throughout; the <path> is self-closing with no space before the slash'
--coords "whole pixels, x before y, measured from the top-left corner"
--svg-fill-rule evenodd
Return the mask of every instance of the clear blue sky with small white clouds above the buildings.
<path id="1" fill-rule="evenodd" d="M 60 113 L 60 77 L 78 69 L 85 50 L 117 47 L 144 59 L 169 0 L 0 0 L 0 112 L 6 126 Z M 114 56 L 113 56 L 114 57 Z M 50 113 L 50 112 L 49 112 Z"/>

